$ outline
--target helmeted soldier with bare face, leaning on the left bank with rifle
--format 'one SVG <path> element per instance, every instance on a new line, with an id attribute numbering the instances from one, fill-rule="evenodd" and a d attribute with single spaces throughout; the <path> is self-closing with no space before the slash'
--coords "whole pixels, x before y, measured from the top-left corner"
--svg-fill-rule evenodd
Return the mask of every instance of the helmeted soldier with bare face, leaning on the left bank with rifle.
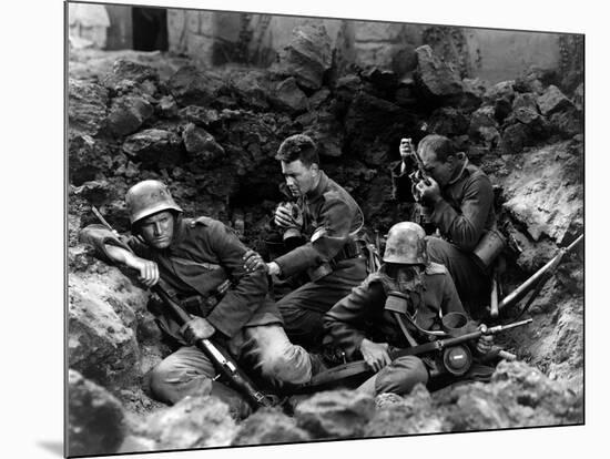
<path id="1" fill-rule="evenodd" d="M 193 317 L 181 329 L 169 313 L 153 310 L 160 328 L 181 346 L 152 370 L 153 397 L 175 404 L 187 395 L 207 392 L 245 416 L 245 401 L 232 388 L 212 380 L 214 366 L 192 345 L 210 337 L 225 343 L 235 358 L 254 364 L 274 384 L 298 385 L 311 379 L 309 356 L 288 340 L 267 294 L 266 275 L 245 271 L 247 248 L 230 228 L 210 217 L 184 218 L 167 187 L 157 181 L 134 185 L 125 203 L 132 225 L 126 244 L 133 253 L 102 225 L 85 227 L 82 241 L 102 258 L 135 269 L 148 287 L 163 279 L 171 296 Z M 218 286 L 227 280 L 228 289 L 220 293 Z M 203 305 L 210 298 L 217 304 L 206 312 Z"/>

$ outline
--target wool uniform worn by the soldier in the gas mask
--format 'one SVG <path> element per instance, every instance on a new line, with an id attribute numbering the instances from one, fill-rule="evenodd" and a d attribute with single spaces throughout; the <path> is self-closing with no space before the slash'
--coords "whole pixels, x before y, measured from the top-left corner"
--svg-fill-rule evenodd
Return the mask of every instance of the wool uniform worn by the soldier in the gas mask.
<path id="1" fill-rule="evenodd" d="M 438 330 L 440 317 L 447 313 L 465 314 L 445 266 L 429 263 L 419 285 L 397 283 L 386 274 L 386 266 L 370 274 L 324 316 L 325 332 L 332 337 L 333 344 L 345 351 L 348 360 L 363 358 L 359 348 L 364 338 L 374 343 L 387 343 L 392 347 L 410 346 L 394 313 L 386 309 L 389 292 L 407 294 L 407 313 L 421 329 Z M 418 344 L 428 340 L 415 326 L 406 324 L 410 336 Z M 427 381 L 427 365 L 419 357 L 405 356 L 393 360 L 360 386 L 360 389 L 372 395 L 408 394 L 416 384 Z"/>

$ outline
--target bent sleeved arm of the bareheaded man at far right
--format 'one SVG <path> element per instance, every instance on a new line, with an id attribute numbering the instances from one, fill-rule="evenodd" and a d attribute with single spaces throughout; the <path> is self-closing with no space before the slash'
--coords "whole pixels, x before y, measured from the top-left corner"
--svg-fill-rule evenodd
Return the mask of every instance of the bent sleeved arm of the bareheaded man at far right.
<path id="1" fill-rule="evenodd" d="M 440 198 L 434 205 L 431 220 L 454 244 L 471 252 L 482 236 L 485 222 L 492 205 L 491 182 L 486 175 L 479 175 L 466 185 L 459 212 Z"/>

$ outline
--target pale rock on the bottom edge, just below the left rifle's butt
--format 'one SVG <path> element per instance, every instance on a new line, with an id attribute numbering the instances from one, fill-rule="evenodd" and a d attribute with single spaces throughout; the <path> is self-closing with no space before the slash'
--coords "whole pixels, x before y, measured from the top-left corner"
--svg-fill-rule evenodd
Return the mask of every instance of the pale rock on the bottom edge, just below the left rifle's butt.
<path id="1" fill-rule="evenodd" d="M 307 431 L 296 426 L 294 418 L 279 410 L 261 409 L 242 422 L 231 445 L 294 443 L 311 439 Z"/>

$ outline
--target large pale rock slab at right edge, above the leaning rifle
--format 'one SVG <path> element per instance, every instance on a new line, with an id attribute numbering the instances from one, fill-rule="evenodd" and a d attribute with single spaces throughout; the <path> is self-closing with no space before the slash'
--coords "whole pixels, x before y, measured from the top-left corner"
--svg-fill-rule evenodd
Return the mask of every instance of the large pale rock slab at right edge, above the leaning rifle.
<path id="1" fill-rule="evenodd" d="M 498 177 L 504 207 L 538 241 L 543 234 L 561 244 L 583 225 L 582 160 L 569 153 L 569 142 L 532 150 L 507 163 Z"/>

